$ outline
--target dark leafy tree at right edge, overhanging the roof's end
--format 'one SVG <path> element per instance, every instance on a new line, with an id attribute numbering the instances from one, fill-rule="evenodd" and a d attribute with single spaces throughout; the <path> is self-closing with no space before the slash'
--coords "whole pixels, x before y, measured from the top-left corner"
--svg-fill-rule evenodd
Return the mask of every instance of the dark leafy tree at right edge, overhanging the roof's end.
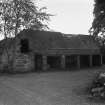
<path id="1" fill-rule="evenodd" d="M 94 0 L 94 20 L 89 32 L 99 43 L 101 51 L 105 54 L 105 0 Z"/>

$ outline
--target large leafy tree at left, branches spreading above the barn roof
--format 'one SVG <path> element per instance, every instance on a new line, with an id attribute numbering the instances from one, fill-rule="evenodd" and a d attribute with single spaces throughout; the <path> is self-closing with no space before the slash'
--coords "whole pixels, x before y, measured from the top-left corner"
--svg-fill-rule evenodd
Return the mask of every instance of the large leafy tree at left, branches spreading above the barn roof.
<path id="1" fill-rule="evenodd" d="M 23 29 L 48 29 L 46 24 L 50 20 L 50 14 L 46 13 L 46 7 L 38 8 L 32 0 L 0 0 L 0 32 L 4 39 L 14 36 Z M 12 63 L 15 57 L 15 41 L 13 42 Z M 7 44 L 7 42 L 5 42 Z M 8 47 L 4 46 L 8 55 L 8 64 L 10 64 Z"/>

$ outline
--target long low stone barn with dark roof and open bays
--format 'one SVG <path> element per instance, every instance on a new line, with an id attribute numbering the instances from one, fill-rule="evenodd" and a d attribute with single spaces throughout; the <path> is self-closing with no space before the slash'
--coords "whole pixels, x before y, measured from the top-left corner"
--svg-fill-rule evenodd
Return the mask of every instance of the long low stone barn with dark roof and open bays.
<path id="1" fill-rule="evenodd" d="M 11 39 L 8 45 L 12 57 Z M 2 41 L 3 42 L 3 41 Z M 2 43 L 1 42 L 1 43 Z M 5 42 L 4 42 L 5 43 Z M 1 44 L 3 46 L 3 44 Z M 3 52 L 1 65 L 6 65 Z M 100 48 L 89 35 L 23 30 L 16 37 L 15 71 L 38 71 L 101 66 Z"/>

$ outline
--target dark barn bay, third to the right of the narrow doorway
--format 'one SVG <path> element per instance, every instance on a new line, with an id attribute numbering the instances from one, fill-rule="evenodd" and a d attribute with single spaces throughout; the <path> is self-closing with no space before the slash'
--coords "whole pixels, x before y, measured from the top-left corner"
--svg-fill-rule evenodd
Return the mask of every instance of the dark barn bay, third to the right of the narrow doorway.
<path id="1" fill-rule="evenodd" d="M 80 55 L 81 68 L 89 67 L 89 55 Z"/>

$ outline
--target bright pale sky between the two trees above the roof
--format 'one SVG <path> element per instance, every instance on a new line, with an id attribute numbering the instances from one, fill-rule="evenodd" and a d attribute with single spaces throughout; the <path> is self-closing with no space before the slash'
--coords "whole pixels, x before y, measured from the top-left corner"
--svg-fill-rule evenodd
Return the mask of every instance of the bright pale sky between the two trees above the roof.
<path id="1" fill-rule="evenodd" d="M 93 21 L 94 0 L 39 0 L 53 14 L 49 27 L 65 34 L 89 34 Z"/>

